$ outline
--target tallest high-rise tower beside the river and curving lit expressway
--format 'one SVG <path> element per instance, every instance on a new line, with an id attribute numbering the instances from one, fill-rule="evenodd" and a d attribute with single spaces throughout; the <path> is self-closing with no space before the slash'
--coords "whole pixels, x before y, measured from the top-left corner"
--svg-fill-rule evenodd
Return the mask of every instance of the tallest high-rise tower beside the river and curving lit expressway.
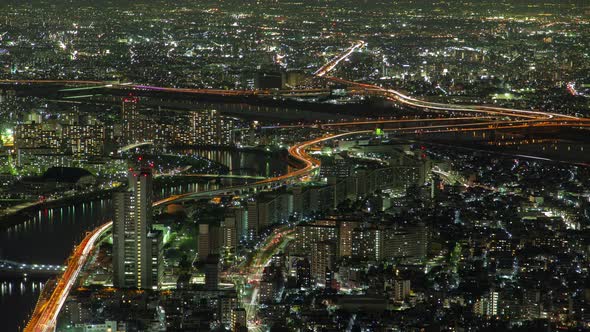
<path id="1" fill-rule="evenodd" d="M 161 277 L 162 234 L 151 228 L 152 171 L 129 171 L 127 191 L 114 195 L 114 285 L 156 289 Z"/>

